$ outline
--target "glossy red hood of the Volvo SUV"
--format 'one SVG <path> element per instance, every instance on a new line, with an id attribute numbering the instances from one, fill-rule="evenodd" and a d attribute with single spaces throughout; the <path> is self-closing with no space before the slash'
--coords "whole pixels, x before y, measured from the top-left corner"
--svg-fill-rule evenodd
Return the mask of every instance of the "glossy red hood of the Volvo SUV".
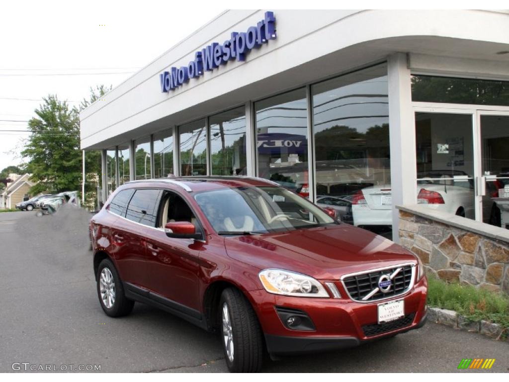
<path id="1" fill-rule="evenodd" d="M 347 224 L 225 237 L 228 256 L 249 265 L 334 280 L 352 272 L 402 262 L 413 254 L 389 239 Z"/>

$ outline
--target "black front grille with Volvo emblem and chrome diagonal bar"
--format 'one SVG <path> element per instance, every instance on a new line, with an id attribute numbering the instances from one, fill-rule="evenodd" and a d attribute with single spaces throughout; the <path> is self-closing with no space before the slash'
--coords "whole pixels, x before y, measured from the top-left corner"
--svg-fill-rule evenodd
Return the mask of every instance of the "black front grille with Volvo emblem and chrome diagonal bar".
<path id="1" fill-rule="evenodd" d="M 370 292 L 378 288 L 378 280 L 382 275 L 392 275 L 393 272 L 402 268 L 400 272 L 392 280 L 392 285 L 387 292 L 378 290 L 370 298 L 363 300 L 362 298 L 370 294 Z M 393 268 L 387 268 L 383 270 L 366 272 L 361 275 L 348 276 L 343 279 L 343 284 L 352 298 L 355 301 L 376 301 L 383 298 L 390 298 L 403 294 L 408 290 L 412 283 L 412 266 L 403 265 L 395 266 Z"/>

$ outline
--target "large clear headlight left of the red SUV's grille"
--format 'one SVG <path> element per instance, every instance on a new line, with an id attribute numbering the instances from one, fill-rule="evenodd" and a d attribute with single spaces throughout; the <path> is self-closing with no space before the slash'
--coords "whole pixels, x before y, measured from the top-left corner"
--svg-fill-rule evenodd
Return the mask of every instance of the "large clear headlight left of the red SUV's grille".
<path id="1" fill-rule="evenodd" d="M 329 297 L 325 288 L 312 277 L 283 269 L 264 269 L 258 276 L 269 293 L 297 297 Z"/>

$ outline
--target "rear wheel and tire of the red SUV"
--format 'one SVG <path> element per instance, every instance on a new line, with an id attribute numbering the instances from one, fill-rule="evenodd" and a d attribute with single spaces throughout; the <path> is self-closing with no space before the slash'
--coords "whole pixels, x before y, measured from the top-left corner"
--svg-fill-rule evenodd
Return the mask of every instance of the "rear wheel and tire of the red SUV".
<path id="1" fill-rule="evenodd" d="M 122 280 L 115 265 L 109 259 L 104 259 L 97 268 L 97 296 L 101 308 L 110 317 L 122 317 L 131 313 L 134 301 L 126 298 Z M 103 292 L 101 284 L 104 282 Z M 106 297 L 103 300 L 103 295 Z"/>

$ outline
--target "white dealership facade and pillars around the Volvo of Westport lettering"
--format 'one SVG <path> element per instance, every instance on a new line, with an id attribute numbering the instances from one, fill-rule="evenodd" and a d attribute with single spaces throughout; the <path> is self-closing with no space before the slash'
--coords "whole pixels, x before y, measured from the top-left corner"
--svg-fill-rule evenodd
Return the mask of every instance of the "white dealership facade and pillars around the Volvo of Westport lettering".
<path id="1" fill-rule="evenodd" d="M 307 182 L 312 185 L 310 199 L 314 199 L 317 182 L 310 111 L 312 84 L 386 63 L 392 206 L 415 204 L 418 176 L 414 115 L 418 107 L 433 105 L 412 102 L 411 75 L 509 80 L 509 54 L 503 54 L 509 51 L 507 11 L 280 10 L 274 12 L 277 38 L 251 50 L 244 62 L 230 61 L 191 78 L 176 90 L 161 92 L 160 73 L 173 66 L 187 65 L 194 59 L 195 51 L 229 39 L 231 32 L 245 32 L 263 20 L 264 13 L 264 10 L 221 13 L 82 111 L 81 148 L 110 150 L 127 143 L 131 158 L 128 177 L 133 179 L 132 141 L 174 128 L 173 174 L 181 175 L 176 127 L 241 106 L 246 112 L 246 174 L 261 175 L 256 148 L 260 129 L 254 127 L 253 102 L 304 87 L 308 105 Z M 509 110 L 490 107 L 493 109 Z M 210 150 L 209 142 L 207 154 Z M 152 162 L 153 172 L 153 155 L 148 154 L 147 158 Z M 208 155 L 208 174 L 210 161 Z M 104 163 L 103 174 L 106 168 Z M 117 169 L 117 178 L 118 173 L 127 178 L 127 169 Z M 103 184 L 106 183 L 104 176 Z M 107 187 L 103 188 L 106 194 Z M 397 228 L 399 219 L 396 210 L 392 210 L 392 225 Z"/>

